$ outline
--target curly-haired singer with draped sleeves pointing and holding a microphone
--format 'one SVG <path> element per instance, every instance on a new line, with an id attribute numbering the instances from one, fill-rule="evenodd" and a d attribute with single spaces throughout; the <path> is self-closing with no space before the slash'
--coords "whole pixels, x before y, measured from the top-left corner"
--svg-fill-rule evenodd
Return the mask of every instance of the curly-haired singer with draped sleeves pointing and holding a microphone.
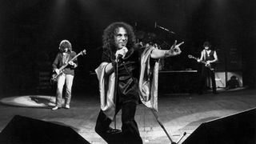
<path id="1" fill-rule="evenodd" d="M 102 38 L 102 63 L 95 70 L 101 96 L 95 131 L 107 143 L 141 144 L 142 138 L 134 120 L 136 106 L 142 102 L 157 110 L 158 58 L 181 54 L 179 46 L 183 42 L 176 45 L 175 41 L 170 50 L 139 47 L 135 44 L 132 26 L 125 22 L 107 26 Z M 122 132 L 116 133 L 110 123 L 119 110 L 122 110 Z"/>

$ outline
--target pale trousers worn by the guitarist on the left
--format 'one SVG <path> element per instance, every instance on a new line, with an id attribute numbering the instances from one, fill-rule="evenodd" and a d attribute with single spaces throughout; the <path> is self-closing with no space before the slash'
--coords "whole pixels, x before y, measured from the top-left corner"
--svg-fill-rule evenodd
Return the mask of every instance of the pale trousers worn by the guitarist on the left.
<path id="1" fill-rule="evenodd" d="M 66 106 L 70 105 L 73 79 L 74 79 L 74 75 L 71 75 L 71 74 L 61 74 L 58 76 L 57 91 L 56 91 L 56 106 L 62 107 L 62 91 L 63 91 L 64 84 L 66 84 L 65 105 Z"/>

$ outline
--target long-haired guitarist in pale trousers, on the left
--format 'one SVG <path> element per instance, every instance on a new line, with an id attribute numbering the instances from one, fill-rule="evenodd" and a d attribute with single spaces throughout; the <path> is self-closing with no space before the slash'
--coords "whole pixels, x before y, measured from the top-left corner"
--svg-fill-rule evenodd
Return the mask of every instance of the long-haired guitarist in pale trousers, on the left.
<path id="1" fill-rule="evenodd" d="M 66 94 L 65 94 L 65 108 L 70 109 L 70 99 L 71 99 L 71 88 L 74 79 L 74 68 L 78 66 L 77 58 L 70 62 L 70 59 L 74 58 L 76 53 L 72 51 L 71 43 L 68 40 L 62 40 L 59 44 L 59 52 L 52 64 L 55 74 L 59 74 L 57 78 L 57 90 L 56 90 L 56 106 L 52 110 L 58 110 L 62 107 L 62 90 L 64 84 L 66 84 Z M 59 68 L 69 64 L 65 67 L 63 71 Z"/>

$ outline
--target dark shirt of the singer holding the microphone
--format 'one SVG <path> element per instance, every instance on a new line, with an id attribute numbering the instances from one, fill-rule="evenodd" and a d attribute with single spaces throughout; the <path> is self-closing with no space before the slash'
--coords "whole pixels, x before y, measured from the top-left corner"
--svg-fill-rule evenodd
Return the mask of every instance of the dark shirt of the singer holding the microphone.
<path id="1" fill-rule="evenodd" d="M 125 58 L 120 58 L 118 62 L 118 101 L 134 102 L 138 104 L 138 77 L 139 77 L 139 57 L 142 49 L 128 50 Z M 103 51 L 102 62 L 113 62 L 114 58 L 110 52 Z M 115 67 L 116 71 L 116 67 Z"/>

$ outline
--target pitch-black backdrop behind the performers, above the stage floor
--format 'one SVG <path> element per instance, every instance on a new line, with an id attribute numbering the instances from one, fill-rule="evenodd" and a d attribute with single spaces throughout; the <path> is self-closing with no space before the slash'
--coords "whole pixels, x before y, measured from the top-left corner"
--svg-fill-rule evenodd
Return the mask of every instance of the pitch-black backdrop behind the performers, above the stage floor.
<path id="1" fill-rule="evenodd" d="M 153 34 L 160 45 L 185 42 L 181 55 L 165 60 L 164 70 L 197 70 L 187 54 L 199 57 L 208 40 L 218 52 L 218 71 L 241 71 L 243 85 L 254 88 L 255 8 L 254 0 L 2 0 L 0 94 L 54 94 L 54 86 L 38 90 L 39 74 L 51 71 L 62 39 L 77 53 L 87 50 L 78 58 L 73 91 L 96 90 L 91 72 L 100 62 L 102 31 L 117 21 L 145 37 Z"/>

